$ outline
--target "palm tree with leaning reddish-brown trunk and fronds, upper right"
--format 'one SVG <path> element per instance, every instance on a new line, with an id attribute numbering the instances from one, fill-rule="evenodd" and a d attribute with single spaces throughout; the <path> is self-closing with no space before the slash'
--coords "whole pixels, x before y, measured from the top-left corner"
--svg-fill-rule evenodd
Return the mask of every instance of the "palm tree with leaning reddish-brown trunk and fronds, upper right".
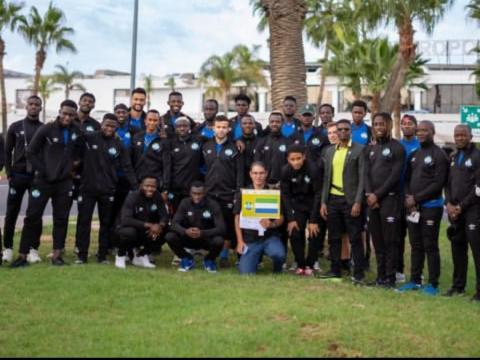
<path id="1" fill-rule="evenodd" d="M 380 110 L 391 112 L 400 90 L 405 86 L 409 66 L 415 60 L 416 46 L 413 23 L 419 23 L 431 34 L 453 0 L 363 0 L 358 2 L 370 25 L 394 23 L 399 34 L 399 49 L 382 97 Z"/>

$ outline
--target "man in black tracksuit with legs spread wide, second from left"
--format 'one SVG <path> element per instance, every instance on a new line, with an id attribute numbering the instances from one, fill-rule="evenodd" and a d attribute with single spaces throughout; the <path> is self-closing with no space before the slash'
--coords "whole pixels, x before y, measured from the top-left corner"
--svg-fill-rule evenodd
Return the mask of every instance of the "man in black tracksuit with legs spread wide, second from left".
<path id="1" fill-rule="evenodd" d="M 19 258 L 12 267 L 27 264 L 26 256 L 42 233 L 42 216 L 49 199 L 53 208 L 53 265 L 64 265 L 61 252 L 65 247 L 68 215 L 72 204 L 72 172 L 78 163 L 82 133 L 73 125 L 77 104 L 65 100 L 58 118 L 42 126 L 27 148 L 35 180 L 28 200 L 20 241 Z"/>

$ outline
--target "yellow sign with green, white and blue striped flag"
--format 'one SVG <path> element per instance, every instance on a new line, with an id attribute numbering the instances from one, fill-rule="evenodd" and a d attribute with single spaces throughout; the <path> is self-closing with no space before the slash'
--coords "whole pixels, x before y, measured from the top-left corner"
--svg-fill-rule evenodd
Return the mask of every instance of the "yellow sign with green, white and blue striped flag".
<path id="1" fill-rule="evenodd" d="M 242 190 L 242 216 L 280 219 L 280 190 Z"/>

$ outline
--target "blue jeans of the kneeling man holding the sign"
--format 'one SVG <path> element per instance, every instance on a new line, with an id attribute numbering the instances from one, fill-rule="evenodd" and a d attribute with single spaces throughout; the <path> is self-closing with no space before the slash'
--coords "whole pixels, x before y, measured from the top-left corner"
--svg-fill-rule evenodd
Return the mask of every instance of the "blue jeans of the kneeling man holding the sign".
<path id="1" fill-rule="evenodd" d="M 247 253 L 240 257 L 238 269 L 240 274 L 255 274 L 260 258 L 265 253 L 273 262 L 273 272 L 282 272 L 282 265 L 285 262 L 285 247 L 280 238 L 271 236 L 263 241 L 256 241 L 247 244 Z"/>

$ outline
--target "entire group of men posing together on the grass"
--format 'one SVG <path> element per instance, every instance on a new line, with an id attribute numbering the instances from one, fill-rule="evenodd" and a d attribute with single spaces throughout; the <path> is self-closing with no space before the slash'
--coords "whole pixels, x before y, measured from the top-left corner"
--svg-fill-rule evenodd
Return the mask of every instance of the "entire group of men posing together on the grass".
<path id="1" fill-rule="evenodd" d="M 455 128 L 457 151 L 448 159 L 434 143 L 435 127 L 402 118 L 403 138 L 392 138 L 392 118 L 352 104 L 352 121 L 334 122 L 334 108 L 298 111 L 288 96 L 263 128 L 249 113 L 251 100 L 235 98 L 237 115 L 218 115 L 216 100 L 204 104 L 204 122 L 182 113 L 183 97 L 169 95 L 169 110 L 144 112 L 146 92 L 135 89 L 130 107 L 115 106 L 101 123 L 90 114 L 95 96 L 62 102 L 55 121 L 42 124 L 41 99 L 27 100 L 27 116 L 5 136 L 9 180 L 3 256 L 12 267 L 40 261 L 42 218 L 51 200 L 52 264 L 64 265 L 68 219 L 76 200 L 75 247 L 78 264 L 88 261 L 92 216 L 98 208 L 97 260 L 115 266 L 155 267 L 152 254 L 167 243 L 179 270 L 195 266 L 217 271 L 235 250 L 241 273 L 255 273 L 263 256 L 275 272 L 285 267 L 288 243 L 297 275 L 319 270 L 328 233 L 330 270 L 320 278 L 338 279 L 351 267 L 352 281 L 365 284 L 370 237 L 377 262 L 375 286 L 395 288 L 404 272 L 405 236 L 411 243 L 411 278 L 399 291 L 438 293 L 439 229 L 444 205 L 454 263 L 447 295 L 465 291 L 468 244 L 473 252 L 480 300 L 480 153 L 468 126 Z M 299 116 L 298 116 L 299 115 Z M 297 117 L 298 116 L 298 117 Z M 279 189 L 280 219 L 261 221 L 264 231 L 241 227 L 241 189 Z M 25 192 L 28 208 L 19 256 L 13 261 L 15 224 Z M 445 198 L 444 198 L 445 194 Z M 326 254 L 326 251 L 325 251 Z M 428 281 L 422 285 L 427 259 Z"/>

